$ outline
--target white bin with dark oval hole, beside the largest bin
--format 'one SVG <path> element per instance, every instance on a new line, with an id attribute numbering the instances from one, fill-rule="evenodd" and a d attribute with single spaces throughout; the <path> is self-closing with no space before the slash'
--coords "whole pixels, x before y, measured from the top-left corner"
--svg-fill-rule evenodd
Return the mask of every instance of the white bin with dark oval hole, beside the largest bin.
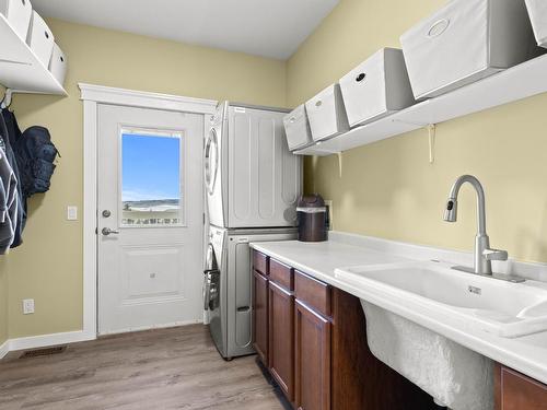
<path id="1" fill-rule="evenodd" d="M 383 48 L 340 80 L 350 127 L 415 103 L 403 51 Z"/>

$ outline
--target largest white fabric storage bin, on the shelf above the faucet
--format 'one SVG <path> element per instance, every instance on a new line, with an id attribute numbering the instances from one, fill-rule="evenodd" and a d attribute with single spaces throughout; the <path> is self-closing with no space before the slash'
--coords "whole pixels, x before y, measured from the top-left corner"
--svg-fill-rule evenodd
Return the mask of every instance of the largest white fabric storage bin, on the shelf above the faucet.
<path id="1" fill-rule="evenodd" d="M 416 98 L 444 94 L 525 61 L 531 36 L 524 0 L 450 1 L 400 37 Z"/>

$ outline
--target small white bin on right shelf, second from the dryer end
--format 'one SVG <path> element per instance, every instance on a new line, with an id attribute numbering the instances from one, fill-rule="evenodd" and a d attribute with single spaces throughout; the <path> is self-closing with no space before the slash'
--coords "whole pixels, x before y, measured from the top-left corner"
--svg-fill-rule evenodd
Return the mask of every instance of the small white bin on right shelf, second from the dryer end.
<path id="1" fill-rule="evenodd" d="M 339 84 L 323 90 L 310 99 L 305 107 L 314 141 L 325 140 L 349 130 Z"/>

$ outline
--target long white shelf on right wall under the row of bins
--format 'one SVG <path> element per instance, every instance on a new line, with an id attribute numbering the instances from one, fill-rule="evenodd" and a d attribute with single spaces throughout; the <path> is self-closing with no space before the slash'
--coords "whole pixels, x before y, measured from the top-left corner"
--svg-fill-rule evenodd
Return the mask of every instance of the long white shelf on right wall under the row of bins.
<path id="1" fill-rule="evenodd" d="M 547 55 L 295 151 L 326 156 L 547 92 Z"/>

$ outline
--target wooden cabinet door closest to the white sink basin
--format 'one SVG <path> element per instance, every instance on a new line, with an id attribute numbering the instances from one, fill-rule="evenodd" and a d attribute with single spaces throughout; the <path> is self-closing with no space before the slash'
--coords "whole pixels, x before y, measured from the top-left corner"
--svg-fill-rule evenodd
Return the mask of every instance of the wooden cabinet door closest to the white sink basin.
<path id="1" fill-rule="evenodd" d="M 295 302 L 295 403 L 299 410 L 330 409 L 330 321 Z"/>

